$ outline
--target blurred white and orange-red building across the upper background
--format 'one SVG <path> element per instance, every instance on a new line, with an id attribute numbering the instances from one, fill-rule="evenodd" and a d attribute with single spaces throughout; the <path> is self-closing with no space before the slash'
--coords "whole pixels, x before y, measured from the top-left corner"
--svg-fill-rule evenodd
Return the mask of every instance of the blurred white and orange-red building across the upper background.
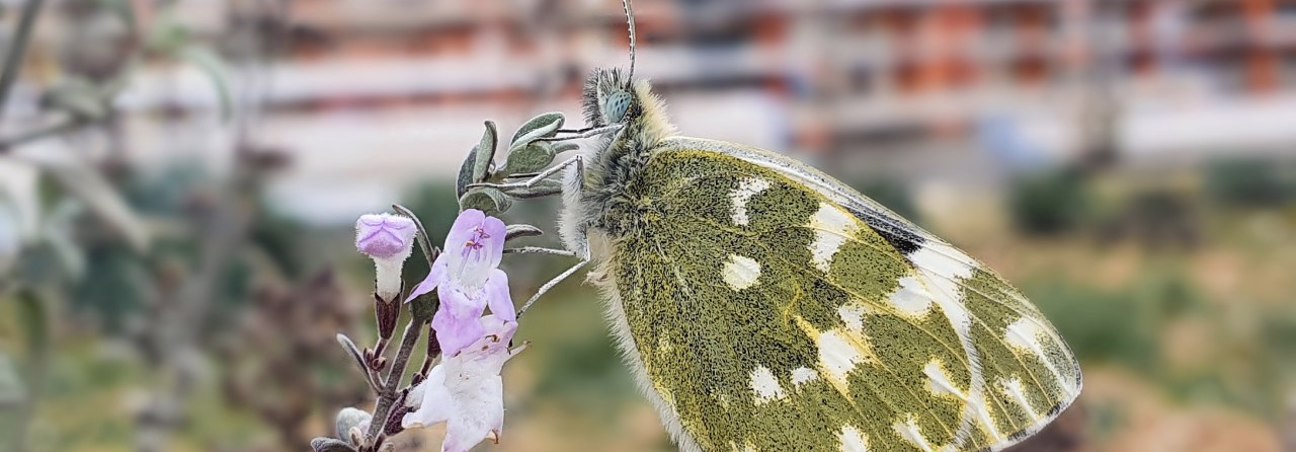
<path id="1" fill-rule="evenodd" d="M 213 36 L 279 26 L 283 58 L 235 60 L 232 80 L 238 96 L 267 102 L 254 118 L 258 141 L 293 157 L 277 196 L 320 220 L 448 177 L 485 119 L 502 133 L 540 111 L 578 122 L 583 75 L 627 62 L 614 0 L 255 5 L 181 1 L 174 16 Z M 1179 164 L 1296 144 L 1293 0 L 640 0 L 635 9 L 636 75 L 654 82 L 684 133 L 837 172 L 982 184 L 1002 168 L 1078 158 Z M 219 101 L 194 70 L 150 67 L 122 102 L 145 119 L 176 106 L 197 113 L 168 133 L 133 122 L 140 155 L 170 153 L 162 148 L 175 140 L 228 144 L 209 131 L 223 127 Z"/>

